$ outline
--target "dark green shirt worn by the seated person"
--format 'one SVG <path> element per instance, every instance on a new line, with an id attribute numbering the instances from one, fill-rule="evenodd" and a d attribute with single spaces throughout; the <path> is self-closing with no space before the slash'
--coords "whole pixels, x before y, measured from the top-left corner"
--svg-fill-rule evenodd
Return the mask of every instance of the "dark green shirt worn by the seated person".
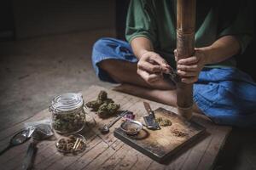
<path id="1" fill-rule="evenodd" d="M 211 45 L 219 37 L 233 35 L 241 54 L 253 37 L 253 5 L 250 0 L 197 0 L 195 47 Z M 176 0 L 131 0 L 126 20 L 125 37 L 147 37 L 154 49 L 173 56 L 176 48 Z M 230 58 L 217 65 L 235 66 Z M 210 66 L 210 65 L 209 65 Z"/>

